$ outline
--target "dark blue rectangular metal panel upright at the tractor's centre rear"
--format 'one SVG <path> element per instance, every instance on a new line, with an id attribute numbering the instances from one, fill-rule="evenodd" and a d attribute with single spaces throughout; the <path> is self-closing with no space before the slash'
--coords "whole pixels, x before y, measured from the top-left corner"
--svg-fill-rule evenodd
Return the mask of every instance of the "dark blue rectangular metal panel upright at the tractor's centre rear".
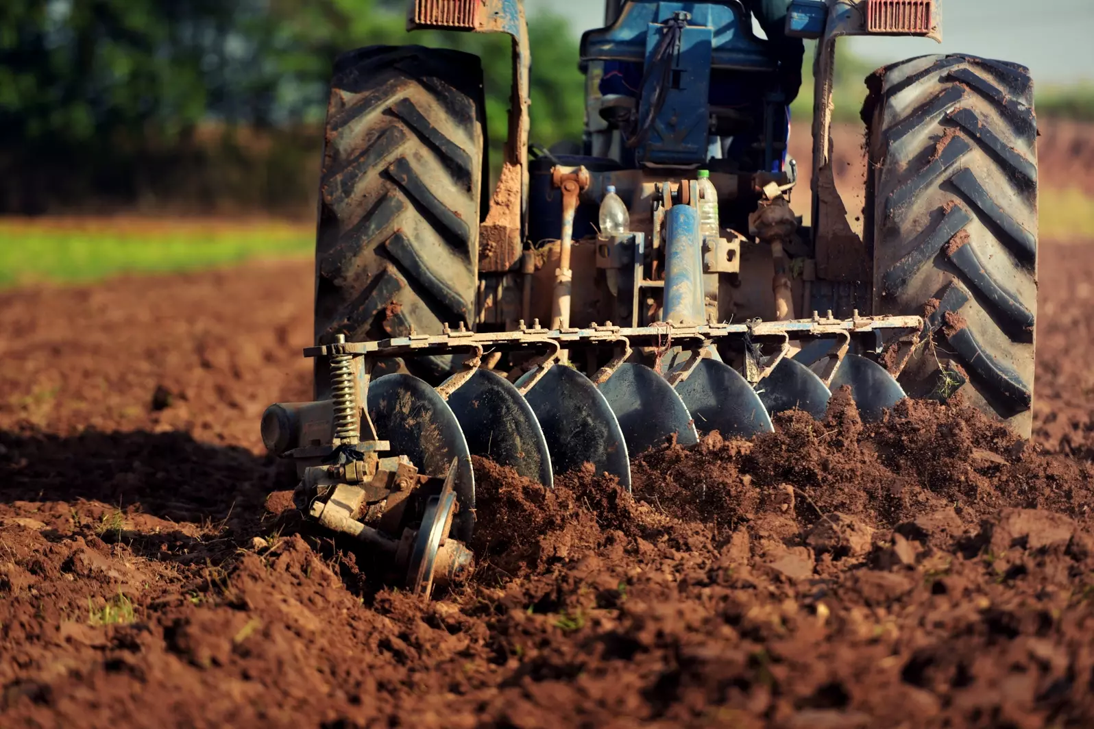
<path id="1" fill-rule="evenodd" d="M 645 34 L 645 68 L 654 68 L 654 51 L 668 33 L 664 25 L 651 23 Z M 680 34 L 668 73 L 664 103 L 647 139 L 638 150 L 638 161 L 654 164 L 702 164 L 710 149 L 710 67 L 713 28 L 691 26 Z M 642 87 L 639 118 L 651 113 L 650 105 L 663 83 L 660 73 L 647 73 Z"/>

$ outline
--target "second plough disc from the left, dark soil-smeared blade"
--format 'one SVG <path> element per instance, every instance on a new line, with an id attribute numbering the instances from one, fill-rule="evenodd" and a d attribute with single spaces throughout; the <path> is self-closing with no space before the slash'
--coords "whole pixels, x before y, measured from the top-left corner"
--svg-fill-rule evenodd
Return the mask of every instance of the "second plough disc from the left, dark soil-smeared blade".
<path id="1" fill-rule="evenodd" d="M 512 467 L 548 489 L 554 485 L 543 428 L 512 383 L 489 369 L 476 369 L 449 396 L 449 407 L 472 454 Z"/>

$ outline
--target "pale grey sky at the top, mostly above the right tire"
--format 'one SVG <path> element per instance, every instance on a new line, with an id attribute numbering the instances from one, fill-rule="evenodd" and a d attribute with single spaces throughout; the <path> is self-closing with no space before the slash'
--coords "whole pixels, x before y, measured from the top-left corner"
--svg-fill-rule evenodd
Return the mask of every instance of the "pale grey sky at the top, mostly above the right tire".
<path id="1" fill-rule="evenodd" d="M 603 0 L 525 0 L 574 31 L 604 24 Z M 878 66 L 924 54 L 966 52 L 1029 67 L 1041 84 L 1094 82 L 1094 0 L 943 0 L 939 45 L 926 38 L 851 38 L 850 47 Z"/>

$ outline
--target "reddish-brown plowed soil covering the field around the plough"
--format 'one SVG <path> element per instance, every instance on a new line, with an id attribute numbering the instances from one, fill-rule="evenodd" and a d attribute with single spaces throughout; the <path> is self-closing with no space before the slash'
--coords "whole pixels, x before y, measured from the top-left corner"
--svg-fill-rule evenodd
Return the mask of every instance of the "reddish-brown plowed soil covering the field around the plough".
<path id="1" fill-rule="evenodd" d="M 291 507 L 311 267 L 0 294 L 0 726 L 1094 726 L 1094 256 L 1043 252 L 1022 443 L 779 420 L 544 493 L 478 463 L 420 604 Z"/>

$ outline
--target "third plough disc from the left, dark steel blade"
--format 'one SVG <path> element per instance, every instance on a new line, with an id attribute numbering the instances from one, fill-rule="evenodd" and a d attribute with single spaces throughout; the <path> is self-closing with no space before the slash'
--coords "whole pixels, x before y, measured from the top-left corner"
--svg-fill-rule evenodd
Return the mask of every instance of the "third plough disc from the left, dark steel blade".
<path id="1" fill-rule="evenodd" d="M 538 373 L 529 372 L 516 383 L 524 390 Z M 630 491 L 630 461 L 619 421 L 593 381 L 577 369 L 556 364 L 525 392 L 536 414 L 551 470 L 566 473 L 589 462 L 597 473 L 610 473 Z"/>

